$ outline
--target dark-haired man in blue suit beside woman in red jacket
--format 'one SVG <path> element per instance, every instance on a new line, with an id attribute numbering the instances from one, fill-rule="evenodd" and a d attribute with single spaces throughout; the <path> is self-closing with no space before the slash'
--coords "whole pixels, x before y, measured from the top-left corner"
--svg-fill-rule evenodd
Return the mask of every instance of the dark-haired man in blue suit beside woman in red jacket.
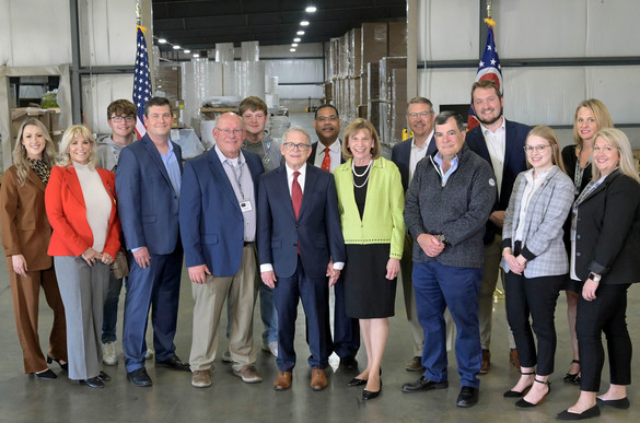
<path id="1" fill-rule="evenodd" d="M 144 368 L 147 317 L 153 307 L 155 365 L 188 371 L 175 354 L 183 249 L 178 232 L 182 151 L 171 142 L 171 104 L 153 97 L 144 107 L 147 134 L 123 149 L 116 171 L 118 212 L 130 273 L 125 297 L 123 346 L 127 376 L 138 386 L 150 386 Z"/>

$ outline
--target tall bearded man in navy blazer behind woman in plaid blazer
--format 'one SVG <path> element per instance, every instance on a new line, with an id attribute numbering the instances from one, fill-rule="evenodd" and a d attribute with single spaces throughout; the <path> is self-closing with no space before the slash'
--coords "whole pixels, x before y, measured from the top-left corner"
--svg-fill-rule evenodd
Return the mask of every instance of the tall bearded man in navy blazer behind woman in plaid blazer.
<path id="1" fill-rule="evenodd" d="M 531 127 L 504 119 L 502 108 L 504 98 L 492 81 L 479 81 L 472 87 L 472 106 L 480 125 L 466 136 L 469 149 L 485 158 L 493 168 L 498 184 L 498 198 L 491 210 L 485 232 L 485 265 L 479 293 L 480 341 L 482 344 L 482 366 L 480 374 L 491 366 L 491 324 L 493 315 L 493 291 L 498 282 L 501 260 L 502 223 L 509 205 L 513 184 L 519 173 L 526 171 L 524 141 Z M 502 277 L 502 273 L 500 273 Z M 517 351 L 510 332 L 510 360 L 517 367 Z"/>

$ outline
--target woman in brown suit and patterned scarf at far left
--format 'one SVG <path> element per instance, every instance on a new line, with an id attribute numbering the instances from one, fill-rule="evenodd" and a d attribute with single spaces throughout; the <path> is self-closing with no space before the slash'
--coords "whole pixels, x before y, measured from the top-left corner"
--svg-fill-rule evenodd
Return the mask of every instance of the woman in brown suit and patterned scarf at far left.
<path id="1" fill-rule="evenodd" d="M 45 187 L 55 161 L 54 142 L 45 126 L 27 119 L 18 131 L 13 163 L 0 186 L 0 231 L 13 296 L 18 338 L 24 355 L 24 373 L 55 379 L 47 363 L 67 368 L 65 307 L 58 291 L 54 261 L 47 255 L 51 225 L 45 212 Z M 54 310 L 47 361 L 38 337 L 40 286 Z"/>

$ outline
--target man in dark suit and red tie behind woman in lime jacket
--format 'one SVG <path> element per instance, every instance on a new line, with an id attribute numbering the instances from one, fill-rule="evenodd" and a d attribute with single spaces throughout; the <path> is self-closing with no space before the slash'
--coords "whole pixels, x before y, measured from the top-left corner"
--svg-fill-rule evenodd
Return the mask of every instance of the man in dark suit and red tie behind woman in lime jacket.
<path id="1" fill-rule="evenodd" d="M 334 172 L 338 165 L 345 163 L 342 157 L 342 143 L 338 136 L 342 120 L 338 115 L 338 109 L 330 104 L 323 104 L 315 110 L 313 126 L 318 141 L 311 145 L 311 154 L 306 163 L 319 167 L 327 172 Z M 331 350 L 340 357 L 340 366 L 347 369 L 358 368 L 356 354 L 360 349 L 360 326 L 358 319 L 347 316 L 345 310 L 345 287 L 344 282 L 339 281 L 334 287 L 335 306 L 334 306 L 334 339 L 331 332 L 327 330 L 327 342 Z M 327 309 L 328 309 L 327 303 Z M 329 320 L 327 314 L 327 328 Z M 330 354 L 330 351 L 329 351 Z"/>

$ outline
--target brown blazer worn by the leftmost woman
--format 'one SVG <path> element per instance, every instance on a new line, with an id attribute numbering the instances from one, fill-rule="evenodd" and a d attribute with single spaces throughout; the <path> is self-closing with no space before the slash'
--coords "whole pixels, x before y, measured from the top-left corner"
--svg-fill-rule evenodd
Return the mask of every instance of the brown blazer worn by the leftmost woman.
<path id="1" fill-rule="evenodd" d="M 0 232 L 7 257 L 23 255 L 30 271 L 53 266 L 53 258 L 47 255 L 51 225 L 45 211 L 45 185 L 32 169 L 22 187 L 15 166 L 2 176 Z"/>

